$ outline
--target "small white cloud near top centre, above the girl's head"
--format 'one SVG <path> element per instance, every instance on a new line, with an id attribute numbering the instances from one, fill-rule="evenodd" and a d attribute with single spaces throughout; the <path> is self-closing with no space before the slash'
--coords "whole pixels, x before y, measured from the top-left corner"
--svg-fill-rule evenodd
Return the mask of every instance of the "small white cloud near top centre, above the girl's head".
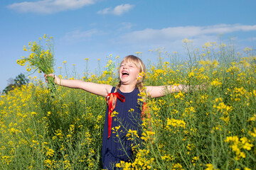
<path id="1" fill-rule="evenodd" d="M 113 8 L 105 8 L 102 9 L 101 11 L 98 11 L 97 13 L 99 14 L 113 14 L 116 16 L 121 16 L 123 13 L 126 13 L 130 11 L 134 6 L 130 4 L 122 4 L 119 6 L 116 6 Z"/>

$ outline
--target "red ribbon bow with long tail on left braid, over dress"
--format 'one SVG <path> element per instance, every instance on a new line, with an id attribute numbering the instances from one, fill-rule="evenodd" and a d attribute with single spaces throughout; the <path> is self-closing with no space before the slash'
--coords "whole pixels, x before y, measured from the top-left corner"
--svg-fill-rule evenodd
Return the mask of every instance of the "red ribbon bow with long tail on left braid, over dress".
<path id="1" fill-rule="evenodd" d="M 118 92 L 116 93 L 110 93 L 110 94 L 107 94 L 106 96 L 106 101 L 107 101 L 107 104 L 109 106 L 109 113 L 108 113 L 108 137 L 107 138 L 110 138 L 110 134 L 111 134 L 111 125 L 112 125 L 112 112 L 114 111 L 114 108 L 117 104 L 117 98 L 124 102 L 125 101 L 125 98 L 124 96 L 122 96 L 122 94 L 119 94 Z M 114 103 L 113 103 L 113 99 L 114 99 Z"/>

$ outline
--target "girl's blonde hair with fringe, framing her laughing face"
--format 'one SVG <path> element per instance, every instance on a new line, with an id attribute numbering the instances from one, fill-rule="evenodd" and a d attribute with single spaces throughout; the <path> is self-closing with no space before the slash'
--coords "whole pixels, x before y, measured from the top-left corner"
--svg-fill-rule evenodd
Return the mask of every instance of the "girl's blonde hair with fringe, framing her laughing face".
<path id="1" fill-rule="evenodd" d="M 127 57 L 124 57 L 121 64 L 123 62 L 132 62 L 139 69 L 139 77 L 141 77 L 141 78 L 137 80 L 136 87 L 141 92 L 143 89 L 144 75 L 146 72 L 146 67 L 145 67 L 144 62 L 142 62 L 142 60 L 139 57 L 136 57 L 134 55 L 128 55 Z M 121 81 L 119 81 L 119 83 L 117 84 L 116 89 L 114 90 L 114 93 L 117 92 L 117 90 L 119 89 L 120 86 L 121 86 Z"/>

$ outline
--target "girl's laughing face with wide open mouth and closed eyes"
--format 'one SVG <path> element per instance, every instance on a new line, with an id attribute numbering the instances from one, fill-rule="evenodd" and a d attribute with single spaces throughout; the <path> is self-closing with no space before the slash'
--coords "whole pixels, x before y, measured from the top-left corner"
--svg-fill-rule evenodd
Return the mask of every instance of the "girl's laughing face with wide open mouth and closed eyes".
<path id="1" fill-rule="evenodd" d="M 127 61 L 123 61 L 119 68 L 119 79 L 122 84 L 137 84 L 137 77 L 139 76 L 139 69 L 137 66 Z"/>

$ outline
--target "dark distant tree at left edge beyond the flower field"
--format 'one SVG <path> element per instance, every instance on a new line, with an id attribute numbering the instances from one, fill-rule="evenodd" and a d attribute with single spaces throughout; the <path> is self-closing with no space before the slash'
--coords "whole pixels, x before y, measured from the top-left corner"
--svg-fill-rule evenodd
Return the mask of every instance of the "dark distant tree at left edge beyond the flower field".
<path id="1" fill-rule="evenodd" d="M 14 90 L 16 87 L 20 87 L 24 84 L 28 84 L 29 79 L 26 79 L 24 74 L 18 74 L 15 79 L 10 78 L 8 80 L 8 86 L 3 90 L 3 94 L 8 94 L 9 91 Z"/>

